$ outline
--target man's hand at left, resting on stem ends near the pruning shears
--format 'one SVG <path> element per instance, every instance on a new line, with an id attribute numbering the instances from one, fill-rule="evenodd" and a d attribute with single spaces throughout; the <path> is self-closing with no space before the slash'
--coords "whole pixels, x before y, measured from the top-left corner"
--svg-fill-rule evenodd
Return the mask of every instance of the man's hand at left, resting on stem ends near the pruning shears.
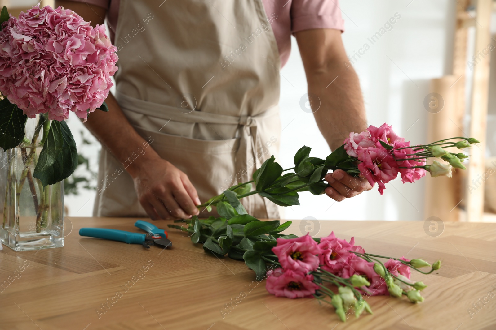
<path id="1" fill-rule="evenodd" d="M 199 214 L 196 189 L 187 175 L 168 161 L 156 157 L 133 174 L 138 200 L 152 220 L 188 219 Z"/>

